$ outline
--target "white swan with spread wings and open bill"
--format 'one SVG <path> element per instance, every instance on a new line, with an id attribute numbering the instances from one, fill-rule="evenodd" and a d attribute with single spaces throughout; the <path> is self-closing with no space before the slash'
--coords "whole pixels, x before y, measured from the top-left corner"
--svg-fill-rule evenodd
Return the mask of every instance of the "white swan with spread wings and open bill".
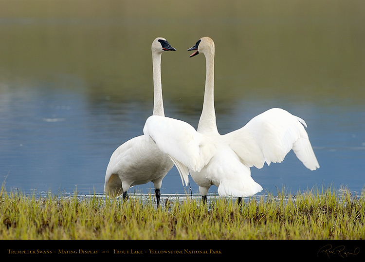
<path id="1" fill-rule="evenodd" d="M 319 168 L 303 127 L 306 123 L 283 109 L 270 109 L 244 127 L 220 135 L 213 94 L 214 42 L 202 37 L 188 49 L 191 50 L 197 52 L 190 57 L 203 53 L 206 58 L 204 102 L 198 131 L 180 120 L 151 116 L 144 133 L 171 156 L 185 183 L 190 171 L 203 202 L 212 185 L 218 187 L 220 196 L 236 196 L 239 203 L 241 197 L 260 192 L 262 187 L 252 179 L 250 167 L 262 168 L 265 162 L 268 165 L 281 162 L 290 150 L 310 170 Z"/>

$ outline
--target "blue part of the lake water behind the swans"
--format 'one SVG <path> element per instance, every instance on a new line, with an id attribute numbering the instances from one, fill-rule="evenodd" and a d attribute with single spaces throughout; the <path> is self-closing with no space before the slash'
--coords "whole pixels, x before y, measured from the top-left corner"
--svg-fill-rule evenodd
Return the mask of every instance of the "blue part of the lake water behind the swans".
<path id="1" fill-rule="evenodd" d="M 113 102 L 110 97 L 89 99 L 81 88 L 57 89 L 52 84 L 0 87 L 0 180 L 7 190 L 25 193 L 103 193 L 104 175 L 111 153 L 128 139 L 142 134 L 152 101 Z M 310 171 L 291 151 L 283 163 L 251 168 L 264 191 L 304 191 L 347 186 L 360 194 L 365 186 L 365 108 L 331 101 L 324 106 L 296 103 L 289 98 L 238 100 L 219 105 L 220 133 L 243 126 L 256 114 L 282 107 L 305 119 L 310 141 L 321 168 Z M 183 113 L 170 101 L 167 116 L 196 127 L 200 110 Z M 198 109 L 200 107 L 197 107 Z M 224 109 L 224 110 L 222 110 Z M 152 183 L 129 192 L 148 193 Z M 198 193 L 190 179 L 183 187 L 173 168 L 163 181 L 167 194 Z M 217 192 L 211 187 L 210 193 Z"/>

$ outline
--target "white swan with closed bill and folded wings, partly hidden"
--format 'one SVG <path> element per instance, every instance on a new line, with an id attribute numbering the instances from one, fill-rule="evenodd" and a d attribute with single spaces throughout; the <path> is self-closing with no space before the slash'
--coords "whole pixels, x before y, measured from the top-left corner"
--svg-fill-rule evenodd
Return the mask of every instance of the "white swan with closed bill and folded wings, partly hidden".
<path id="1" fill-rule="evenodd" d="M 153 115 L 164 116 L 161 84 L 161 55 L 175 51 L 165 38 L 157 37 L 152 42 L 153 65 Z M 119 146 L 111 155 L 105 173 L 104 191 L 111 197 L 123 194 L 127 197 L 129 187 L 151 181 L 155 187 L 157 205 L 160 204 L 160 188 L 167 172 L 174 166 L 170 157 L 161 152 L 155 143 L 143 135 L 134 137 Z"/>

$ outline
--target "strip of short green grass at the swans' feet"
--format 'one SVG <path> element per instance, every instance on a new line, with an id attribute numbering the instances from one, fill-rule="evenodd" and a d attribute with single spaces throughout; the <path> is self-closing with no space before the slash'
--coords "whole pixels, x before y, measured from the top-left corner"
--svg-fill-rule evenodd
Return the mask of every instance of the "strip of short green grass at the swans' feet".
<path id="1" fill-rule="evenodd" d="M 128 201 L 0 192 L 1 240 L 365 239 L 365 197 L 331 188 L 246 199 Z"/>

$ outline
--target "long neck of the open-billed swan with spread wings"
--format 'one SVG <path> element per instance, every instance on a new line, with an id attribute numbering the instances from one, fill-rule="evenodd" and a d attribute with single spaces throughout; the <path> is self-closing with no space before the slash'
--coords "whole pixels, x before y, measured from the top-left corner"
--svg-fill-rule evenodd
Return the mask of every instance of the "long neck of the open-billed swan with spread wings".
<path id="1" fill-rule="evenodd" d="M 206 76 L 203 110 L 198 124 L 200 133 L 218 133 L 216 112 L 214 109 L 214 49 L 204 54 L 206 61 Z"/>

